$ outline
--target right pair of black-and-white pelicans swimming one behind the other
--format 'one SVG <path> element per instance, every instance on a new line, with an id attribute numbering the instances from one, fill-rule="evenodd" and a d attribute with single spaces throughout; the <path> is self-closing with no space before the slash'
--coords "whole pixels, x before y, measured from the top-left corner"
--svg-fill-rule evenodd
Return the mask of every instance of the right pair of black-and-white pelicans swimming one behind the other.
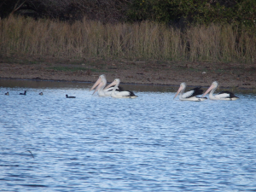
<path id="1" fill-rule="evenodd" d="M 212 85 L 209 87 L 209 89 L 204 93 L 203 90 L 201 90 L 201 87 L 195 87 L 193 90 L 189 90 L 188 92 L 184 93 L 184 90 L 186 89 L 186 83 L 180 84 L 179 89 L 177 90 L 177 94 L 174 96 L 173 99 L 179 94 L 179 99 L 182 101 L 193 101 L 193 102 L 201 102 L 207 100 L 207 93 L 209 93 L 209 99 L 211 100 L 227 100 L 227 101 L 234 101 L 236 99 L 239 99 L 239 97 L 235 96 L 234 93 L 224 90 L 219 92 L 216 95 L 213 95 L 214 91 L 218 88 L 218 82 L 214 81 L 212 82 Z M 202 95 L 202 96 L 201 96 Z"/>

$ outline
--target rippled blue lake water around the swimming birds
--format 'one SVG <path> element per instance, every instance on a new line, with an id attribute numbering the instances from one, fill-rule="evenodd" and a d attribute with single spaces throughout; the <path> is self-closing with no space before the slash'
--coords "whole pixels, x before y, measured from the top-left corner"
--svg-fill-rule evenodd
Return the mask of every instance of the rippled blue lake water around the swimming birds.
<path id="1" fill-rule="evenodd" d="M 0 80 L 1 191 L 256 191 L 255 93 L 181 102 L 178 87 L 124 84 L 138 97 L 115 99 L 91 85 Z"/>

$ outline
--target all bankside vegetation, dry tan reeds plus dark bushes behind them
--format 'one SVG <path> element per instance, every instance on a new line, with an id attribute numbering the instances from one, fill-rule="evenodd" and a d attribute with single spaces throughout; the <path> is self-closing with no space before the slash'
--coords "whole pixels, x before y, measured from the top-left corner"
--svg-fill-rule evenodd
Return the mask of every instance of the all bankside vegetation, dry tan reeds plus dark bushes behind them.
<path id="1" fill-rule="evenodd" d="M 255 10 L 250 0 L 3 0 L 0 57 L 254 62 Z"/>

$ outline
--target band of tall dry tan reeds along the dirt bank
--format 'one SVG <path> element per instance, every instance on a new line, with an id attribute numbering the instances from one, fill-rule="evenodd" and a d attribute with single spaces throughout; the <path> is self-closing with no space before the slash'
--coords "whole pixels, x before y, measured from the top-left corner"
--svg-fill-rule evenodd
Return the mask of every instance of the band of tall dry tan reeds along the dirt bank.
<path id="1" fill-rule="evenodd" d="M 149 21 L 69 24 L 12 16 L 0 20 L 0 55 L 254 62 L 256 35 L 220 25 L 181 31 Z"/>

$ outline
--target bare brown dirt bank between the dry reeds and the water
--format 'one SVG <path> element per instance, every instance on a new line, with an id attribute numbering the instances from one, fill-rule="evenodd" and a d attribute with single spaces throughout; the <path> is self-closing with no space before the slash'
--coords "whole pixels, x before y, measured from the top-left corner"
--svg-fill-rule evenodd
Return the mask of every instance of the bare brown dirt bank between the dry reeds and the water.
<path id="1" fill-rule="evenodd" d="M 68 64 L 67 64 L 68 63 Z M 209 86 L 218 80 L 221 87 L 256 88 L 256 65 L 167 61 L 84 61 L 0 62 L 1 79 L 45 79 L 95 82 L 105 74 L 108 82 Z"/>

